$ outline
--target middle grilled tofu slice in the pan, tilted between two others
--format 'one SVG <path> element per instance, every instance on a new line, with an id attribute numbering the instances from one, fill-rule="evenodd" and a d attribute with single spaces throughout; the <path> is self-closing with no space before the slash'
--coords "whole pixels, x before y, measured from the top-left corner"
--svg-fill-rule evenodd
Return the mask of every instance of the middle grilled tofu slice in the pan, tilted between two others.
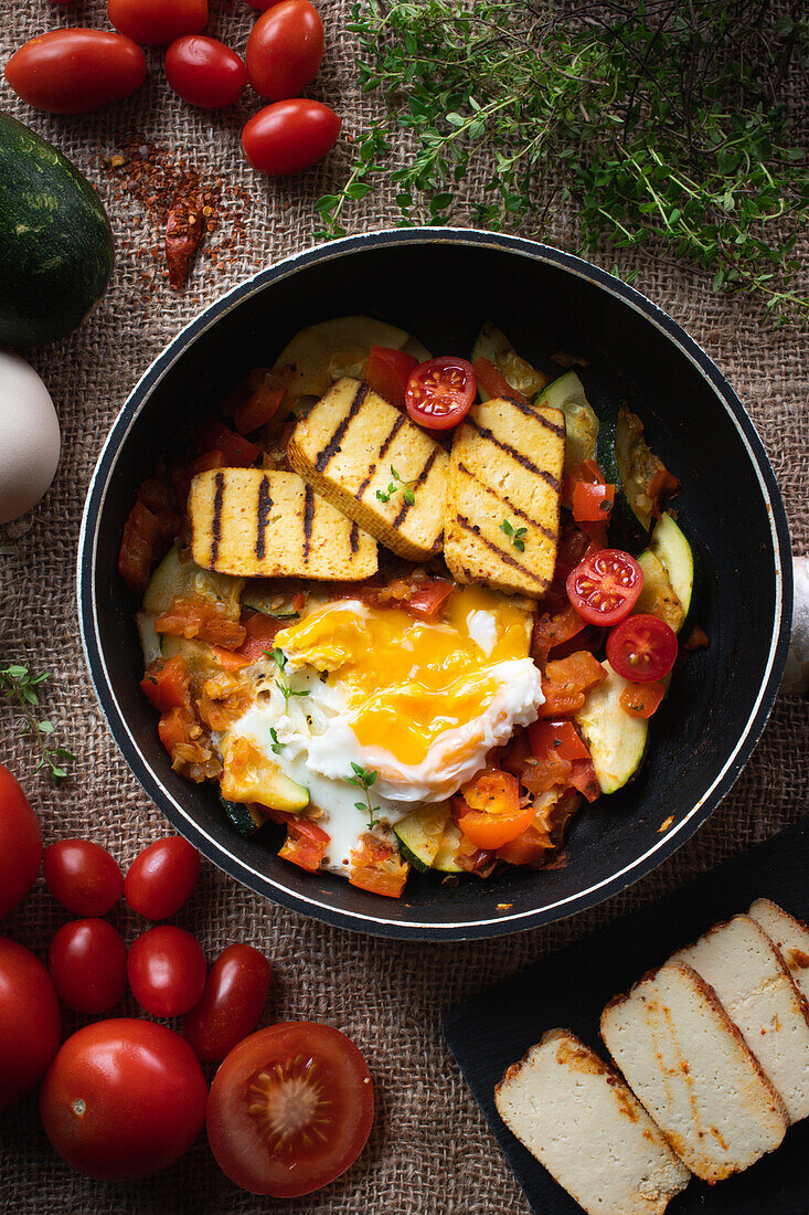
<path id="1" fill-rule="evenodd" d="M 441 552 L 448 458 L 420 426 L 345 378 L 300 419 L 289 463 L 349 519 L 411 561 Z M 401 477 L 387 502 L 392 469 Z M 412 502 L 403 486 L 412 490 Z"/>

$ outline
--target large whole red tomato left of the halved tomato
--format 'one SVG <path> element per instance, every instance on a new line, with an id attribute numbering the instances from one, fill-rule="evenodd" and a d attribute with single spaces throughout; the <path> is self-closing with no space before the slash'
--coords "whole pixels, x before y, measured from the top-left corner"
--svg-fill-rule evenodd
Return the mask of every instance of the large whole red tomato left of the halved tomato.
<path id="1" fill-rule="evenodd" d="M 208 1085 L 187 1042 L 165 1025 L 98 1021 L 67 1039 L 39 1095 L 45 1134 L 63 1160 L 101 1181 L 132 1181 L 188 1151 Z"/>

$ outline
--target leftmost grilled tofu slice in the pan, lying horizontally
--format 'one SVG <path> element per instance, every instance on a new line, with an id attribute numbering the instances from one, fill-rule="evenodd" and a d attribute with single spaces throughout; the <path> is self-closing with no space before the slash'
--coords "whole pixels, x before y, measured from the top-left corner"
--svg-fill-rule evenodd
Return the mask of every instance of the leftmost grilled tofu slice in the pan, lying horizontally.
<path id="1" fill-rule="evenodd" d="M 197 565 L 238 577 L 338 578 L 377 572 L 377 542 L 295 473 L 221 468 L 188 495 Z"/>

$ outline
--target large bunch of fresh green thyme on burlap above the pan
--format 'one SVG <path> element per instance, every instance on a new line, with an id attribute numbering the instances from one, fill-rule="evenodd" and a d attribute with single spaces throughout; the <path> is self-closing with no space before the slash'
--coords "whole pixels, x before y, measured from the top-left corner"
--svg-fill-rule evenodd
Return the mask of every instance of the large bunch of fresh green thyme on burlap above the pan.
<path id="1" fill-rule="evenodd" d="M 402 224 L 462 217 L 456 186 L 483 171 L 469 217 L 553 234 L 578 204 L 581 244 L 664 241 L 753 294 L 779 322 L 809 318 L 796 241 L 809 168 L 792 135 L 809 106 L 809 16 L 760 0 L 361 0 L 349 29 L 360 81 L 385 113 L 358 137 L 349 179 L 318 200 L 321 236 L 383 179 Z M 407 163 L 392 147 L 413 140 Z M 398 164 L 398 166 L 397 166 Z M 487 169 L 491 166 L 491 173 Z"/>

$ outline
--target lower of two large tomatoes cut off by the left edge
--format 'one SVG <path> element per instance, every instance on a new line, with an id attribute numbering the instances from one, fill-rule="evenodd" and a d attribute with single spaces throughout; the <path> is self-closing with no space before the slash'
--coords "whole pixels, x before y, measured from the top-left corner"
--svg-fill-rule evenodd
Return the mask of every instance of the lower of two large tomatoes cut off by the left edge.
<path id="1" fill-rule="evenodd" d="M 0 937 L 0 1111 L 45 1074 L 61 1036 L 50 974 L 29 949 Z"/>

